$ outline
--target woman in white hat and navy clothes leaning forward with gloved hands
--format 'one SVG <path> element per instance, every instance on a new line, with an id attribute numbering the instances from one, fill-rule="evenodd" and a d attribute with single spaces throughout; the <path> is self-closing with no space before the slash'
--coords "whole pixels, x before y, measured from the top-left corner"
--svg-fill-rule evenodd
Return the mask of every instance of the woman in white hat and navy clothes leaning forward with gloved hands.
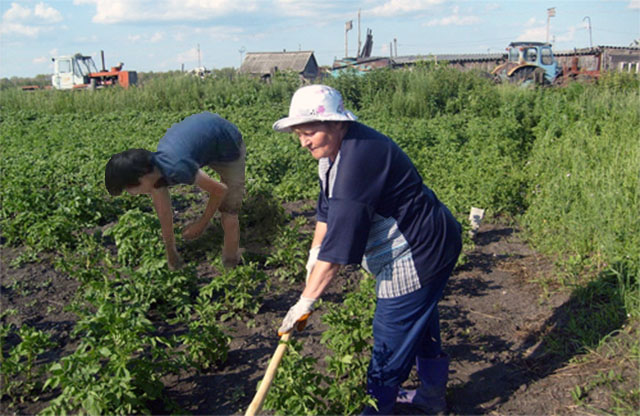
<path id="1" fill-rule="evenodd" d="M 298 89 L 273 128 L 298 136 L 318 160 L 321 183 L 306 286 L 278 332 L 307 319 L 341 265 L 362 263 L 377 297 L 367 373 L 377 411 L 363 414 L 390 414 L 396 402 L 446 411 L 449 358 L 437 303 L 462 248 L 460 224 L 400 147 L 358 123 L 335 89 Z M 400 390 L 414 363 L 421 387 Z"/>

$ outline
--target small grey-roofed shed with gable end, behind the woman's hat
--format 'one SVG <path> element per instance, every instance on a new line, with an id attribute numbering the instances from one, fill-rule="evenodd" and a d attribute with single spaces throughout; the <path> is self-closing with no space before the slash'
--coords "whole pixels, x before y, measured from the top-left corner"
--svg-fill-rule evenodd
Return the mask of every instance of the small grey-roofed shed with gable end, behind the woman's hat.
<path id="1" fill-rule="evenodd" d="M 270 78 L 277 71 L 293 71 L 302 78 L 313 80 L 318 76 L 318 62 L 313 51 L 247 52 L 241 74 Z"/>

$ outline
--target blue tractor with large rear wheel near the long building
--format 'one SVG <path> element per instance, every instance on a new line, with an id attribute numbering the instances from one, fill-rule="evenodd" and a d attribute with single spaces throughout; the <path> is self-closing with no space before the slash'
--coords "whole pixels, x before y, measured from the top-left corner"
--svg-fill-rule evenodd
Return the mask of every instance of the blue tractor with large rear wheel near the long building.
<path id="1" fill-rule="evenodd" d="M 511 42 L 507 61 L 491 71 L 497 80 L 518 84 L 552 84 L 562 74 L 562 68 L 543 42 Z"/>

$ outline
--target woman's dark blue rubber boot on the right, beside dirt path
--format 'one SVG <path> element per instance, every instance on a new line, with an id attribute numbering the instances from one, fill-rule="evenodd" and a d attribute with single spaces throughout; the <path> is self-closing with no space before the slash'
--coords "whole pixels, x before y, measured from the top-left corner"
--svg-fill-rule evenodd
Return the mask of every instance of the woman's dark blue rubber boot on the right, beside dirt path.
<path id="1" fill-rule="evenodd" d="M 412 404 L 427 414 L 447 411 L 445 394 L 449 378 L 449 357 L 416 359 L 421 386 L 416 390 L 400 389 L 397 402 Z"/>

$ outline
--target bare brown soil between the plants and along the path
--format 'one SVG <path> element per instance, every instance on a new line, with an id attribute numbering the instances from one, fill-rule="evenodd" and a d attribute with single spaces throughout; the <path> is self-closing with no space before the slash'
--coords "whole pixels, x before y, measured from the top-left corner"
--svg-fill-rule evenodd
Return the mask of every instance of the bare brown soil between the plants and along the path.
<path id="1" fill-rule="evenodd" d="M 449 413 L 471 414 L 581 414 L 571 389 L 593 369 L 548 357 L 543 340 L 564 322 L 569 294 L 545 293 L 536 279 L 549 276 L 548 259 L 522 242 L 510 225 L 484 224 L 466 253 L 468 262 L 456 270 L 440 303 L 442 338 L 451 357 L 447 401 Z M 17 250 L 2 248 L 2 310 L 18 313 L 6 319 L 29 324 L 53 335 L 60 346 L 42 362 L 73 351 L 69 332 L 74 316 L 63 310 L 78 284 L 56 272 L 46 260 L 19 268 L 9 267 Z M 203 266 L 202 273 L 207 273 Z M 339 300 L 343 287 L 361 278 L 355 268 L 342 271 L 326 294 Z M 301 287 L 280 287 L 267 295 L 255 326 L 232 322 L 228 359 L 222 368 L 207 373 L 185 373 L 165 380 L 166 394 L 190 414 L 243 414 L 277 346 L 275 329 Z M 305 353 L 323 357 L 320 313 L 296 337 Z M 14 336 L 15 337 L 15 336 Z M 9 339 L 8 343 L 15 343 Z M 415 375 L 406 386 L 415 385 Z M 52 397 L 43 395 L 9 409 L 3 398 L 2 414 L 35 414 Z M 603 399 L 604 400 L 604 399 Z M 405 409 L 406 411 L 406 409 Z"/>

